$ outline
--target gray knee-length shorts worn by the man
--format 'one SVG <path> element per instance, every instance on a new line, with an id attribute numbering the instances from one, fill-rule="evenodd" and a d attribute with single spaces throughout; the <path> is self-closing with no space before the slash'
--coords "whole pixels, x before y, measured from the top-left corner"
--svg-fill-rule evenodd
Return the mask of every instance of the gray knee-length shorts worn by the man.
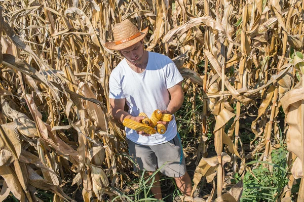
<path id="1" fill-rule="evenodd" d="M 181 177 L 186 173 L 185 159 L 182 153 L 180 137 L 158 145 L 140 145 L 128 140 L 129 153 L 134 161 L 134 171 L 146 170 L 160 172 L 168 177 Z"/>

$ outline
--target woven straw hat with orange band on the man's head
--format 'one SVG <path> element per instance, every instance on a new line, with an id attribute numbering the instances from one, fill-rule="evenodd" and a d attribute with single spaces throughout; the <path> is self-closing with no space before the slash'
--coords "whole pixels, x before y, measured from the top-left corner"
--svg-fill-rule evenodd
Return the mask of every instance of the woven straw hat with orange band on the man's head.
<path id="1" fill-rule="evenodd" d="M 114 42 L 105 43 L 105 47 L 112 50 L 122 50 L 141 41 L 148 32 L 148 27 L 142 31 L 130 21 L 124 20 L 115 24 L 113 29 Z"/>

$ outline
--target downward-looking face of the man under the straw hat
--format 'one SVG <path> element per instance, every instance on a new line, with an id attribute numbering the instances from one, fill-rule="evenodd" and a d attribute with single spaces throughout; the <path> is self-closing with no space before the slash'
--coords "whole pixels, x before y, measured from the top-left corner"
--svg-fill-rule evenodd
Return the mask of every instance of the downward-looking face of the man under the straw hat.
<path id="1" fill-rule="evenodd" d="M 122 49 L 121 53 L 125 58 L 133 63 L 138 63 L 143 56 L 143 46 L 142 42 L 137 42 L 133 46 Z"/>

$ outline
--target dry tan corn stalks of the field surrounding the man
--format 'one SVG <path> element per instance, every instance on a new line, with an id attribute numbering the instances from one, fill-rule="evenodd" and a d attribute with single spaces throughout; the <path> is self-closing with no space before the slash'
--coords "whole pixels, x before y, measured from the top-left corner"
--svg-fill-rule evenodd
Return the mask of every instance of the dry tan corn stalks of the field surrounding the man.
<path id="1" fill-rule="evenodd" d="M 202 103 L 186 134 L 194 149 L 184 148 L 196 161 L 193 190 L 207 181 L 212 189 L 204 200 L 240 201 L 242 180 L 227 179 L 254 176 L 259 166 L 274 169 L 272 152 L 287 146 L 288 184 L 274 201 L 304 201 L 303 180 L 291 191 L 304 169 L 304 1 L 0 5 L 0 201 L 44 201 L 37 190 L 53 193 L 53 201 L 127 200 L 121 191 L 132 162 L 108 102 L 109 75 L 123 57 L 104 46 L 113 40 L 114 24 L 125 19 L 140 30 L 149 27 L 146 50 L 173 59 L 190 111 Z M 242 121 L 254 134 L 249 152 Z M 248 164 L 254 156 L 256 163 Z M 83 199 L 67 194 L 70 186 Z"/>

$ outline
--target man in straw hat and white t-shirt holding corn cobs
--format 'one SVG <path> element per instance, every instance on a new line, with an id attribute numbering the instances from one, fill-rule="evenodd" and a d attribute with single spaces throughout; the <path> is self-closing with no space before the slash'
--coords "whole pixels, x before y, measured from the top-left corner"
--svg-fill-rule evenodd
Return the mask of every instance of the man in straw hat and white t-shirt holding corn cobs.
<path id="1" fill-rule="evenodd" d="M 143 48 L 143 38 L 148 28 L 139 32 L 129 20 L 115 25 L 113 36 L 115 42 L 108 42 L 108 49 L 119 50 L 125 57 L 109 78 L 109 102 L 114 118 L 123 122 L 130 118 L 140 122 L 144 112 L 151 116 L 156 109 L 163 113 L 174 114 L 182 105 L 183 91 L 179 73 L 173 61 L 165 55 L 148 52 Z M 124 111 L 125 103 L 129 111 Z M 145 170 L 146 176 L 160 172 L 173 177 L 176 185 L 186 196 L 191 195 L 192 183 L 186 172 L 185 160 L 175 117 L 171 122 L 158 122 L 167 127 L 164 134 L 145 134 L 126 128 L 126 137 L 132 159 Z M 159 175 L 155 175 L 151 192 L 157 199 L 162 199 Z"/>

